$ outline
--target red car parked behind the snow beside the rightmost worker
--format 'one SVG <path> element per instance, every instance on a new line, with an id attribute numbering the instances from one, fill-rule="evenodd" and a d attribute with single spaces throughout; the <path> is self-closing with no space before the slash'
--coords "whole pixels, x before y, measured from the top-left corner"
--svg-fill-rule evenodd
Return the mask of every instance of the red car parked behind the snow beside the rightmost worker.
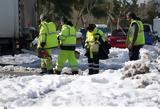
<path id="1" fill-rule="evenodd" d="M 107 42 L 116 48 L 126 48 L 128 29 L 113 30 L 111 35 L 108 36 Z"/>

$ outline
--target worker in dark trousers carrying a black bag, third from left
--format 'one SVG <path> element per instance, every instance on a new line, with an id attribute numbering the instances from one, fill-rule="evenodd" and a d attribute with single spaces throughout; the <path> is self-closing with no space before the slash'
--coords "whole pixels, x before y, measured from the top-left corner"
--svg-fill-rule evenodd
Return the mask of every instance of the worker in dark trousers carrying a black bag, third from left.
<path id="1" fill-rule="evenodd" d="M 100 39 L 105 42 L 105 34 L 96 27 L 95 24 L 89 24 L 85 40 L 86 56 L 88 57 L 89 75 L 99 73 L 99 46 Z"/>

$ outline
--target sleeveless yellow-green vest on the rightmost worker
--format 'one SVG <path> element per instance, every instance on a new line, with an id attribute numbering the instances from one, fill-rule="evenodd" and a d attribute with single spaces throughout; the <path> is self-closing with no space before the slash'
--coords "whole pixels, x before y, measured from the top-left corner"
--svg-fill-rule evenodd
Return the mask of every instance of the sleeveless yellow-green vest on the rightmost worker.
<path id="1" fill-rule="evenodd" d="M 135 41 L 134 45 L 144 45 L 145 44 L 145 37 L 144 37 L 144 27 L 143 23 L 139 20 L 131 20 L 131 24 L 128 31 L 128 39 L 127 43 L 130 44 L 133 40 L 133 32 L 134 28 L 132 27 L 132 24 L 136 23 L 138 25 L 138 36 L 137 40 Z"/>

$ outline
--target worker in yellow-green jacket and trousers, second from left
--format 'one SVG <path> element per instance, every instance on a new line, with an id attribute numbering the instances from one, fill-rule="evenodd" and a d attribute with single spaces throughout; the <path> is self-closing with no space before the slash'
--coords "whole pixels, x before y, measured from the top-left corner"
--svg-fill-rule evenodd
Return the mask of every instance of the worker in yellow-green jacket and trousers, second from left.
<path id="1" fill-rule="evenodd" d="M 72 74 L 78 74 L 78 63 L 75 57 L 76 29 L 73 25 L 68 24 L 68 19 L 66 17 L 61 18 L 61 26 L 61 33 L 58 36 L 60 51 L 56 62 L 55 73 L 61 74 L 64 63 L 68 60 L 72 69 Z"/>

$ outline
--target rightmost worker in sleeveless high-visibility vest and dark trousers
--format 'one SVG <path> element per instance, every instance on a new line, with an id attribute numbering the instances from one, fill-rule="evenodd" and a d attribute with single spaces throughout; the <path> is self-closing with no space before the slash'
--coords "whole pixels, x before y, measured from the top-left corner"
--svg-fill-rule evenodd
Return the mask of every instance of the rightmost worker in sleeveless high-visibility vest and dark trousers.
<path id="1" fill-rule="evenodd" d="M 130 22 L 127 35 L 127 46 L 129 49 L 129 59 L 138 60 L 139 50 L 145 44 L 144 27 L 139 17 L 133 12 L 128 12 L 127 19 Z"/>

